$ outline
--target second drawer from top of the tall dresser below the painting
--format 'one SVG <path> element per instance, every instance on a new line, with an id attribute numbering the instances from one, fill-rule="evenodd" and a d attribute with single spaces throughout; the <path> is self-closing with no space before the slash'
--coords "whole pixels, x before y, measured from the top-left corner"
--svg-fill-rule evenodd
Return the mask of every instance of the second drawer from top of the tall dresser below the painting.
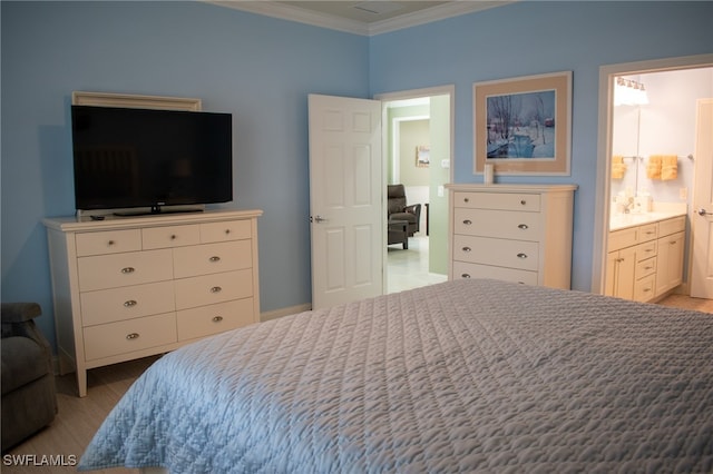
<path id="1" fill-rule="evenodd" d="M 540 236 L 537 213 L 469 209 L 453 210 L 453 233 L 518 240 L 537 240 Z"/>

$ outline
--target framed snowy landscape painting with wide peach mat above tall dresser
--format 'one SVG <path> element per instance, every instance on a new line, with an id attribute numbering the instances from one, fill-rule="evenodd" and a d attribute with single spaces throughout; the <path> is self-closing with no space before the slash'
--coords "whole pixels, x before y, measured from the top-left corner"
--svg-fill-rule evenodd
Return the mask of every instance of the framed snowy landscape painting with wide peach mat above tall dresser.
<path id="1" fill-rule="evenodd" d="M 473 83 L 473 172 L 569 175 L 572 71 Z"/>

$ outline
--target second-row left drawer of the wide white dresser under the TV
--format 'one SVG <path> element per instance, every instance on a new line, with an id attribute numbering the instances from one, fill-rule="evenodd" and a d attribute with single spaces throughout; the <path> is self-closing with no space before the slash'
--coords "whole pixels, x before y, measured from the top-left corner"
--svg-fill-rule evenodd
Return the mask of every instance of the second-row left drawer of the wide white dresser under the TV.
<path id="1" fill-rule="evenodd" d="M 140 285 L 174 277 L 170 249 L 98 255 L 77 260 L 80 292 Z"/>

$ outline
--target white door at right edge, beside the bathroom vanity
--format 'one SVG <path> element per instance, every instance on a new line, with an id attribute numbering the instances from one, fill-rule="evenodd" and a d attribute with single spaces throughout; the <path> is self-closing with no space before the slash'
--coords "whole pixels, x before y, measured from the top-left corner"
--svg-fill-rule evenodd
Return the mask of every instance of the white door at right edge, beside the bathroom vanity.
<path id="1" fill-rule="evenodd" d="M 696 115 L 691 296 L 713 298 L 713 99 Z"/>

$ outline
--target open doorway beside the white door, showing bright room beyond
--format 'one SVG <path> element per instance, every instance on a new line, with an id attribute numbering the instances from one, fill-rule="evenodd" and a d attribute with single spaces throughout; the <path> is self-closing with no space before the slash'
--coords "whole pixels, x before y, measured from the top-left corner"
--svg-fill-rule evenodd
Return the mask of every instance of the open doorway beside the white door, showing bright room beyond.
<path id="1" fill-rule="evenodd" d="M 402 184 L 409 205 L 421 205 L 419 231 L 408 249 L 384 249 L 384 293 L 445 282 L 448 276 L 448 194 L 452 181 L 453 87 L 378 96 L 383 105 L 384 189 Z M 384 216 L 385 216 L 384 199 Z M 385 217 L 384 217 L 385 218 Z"/>

